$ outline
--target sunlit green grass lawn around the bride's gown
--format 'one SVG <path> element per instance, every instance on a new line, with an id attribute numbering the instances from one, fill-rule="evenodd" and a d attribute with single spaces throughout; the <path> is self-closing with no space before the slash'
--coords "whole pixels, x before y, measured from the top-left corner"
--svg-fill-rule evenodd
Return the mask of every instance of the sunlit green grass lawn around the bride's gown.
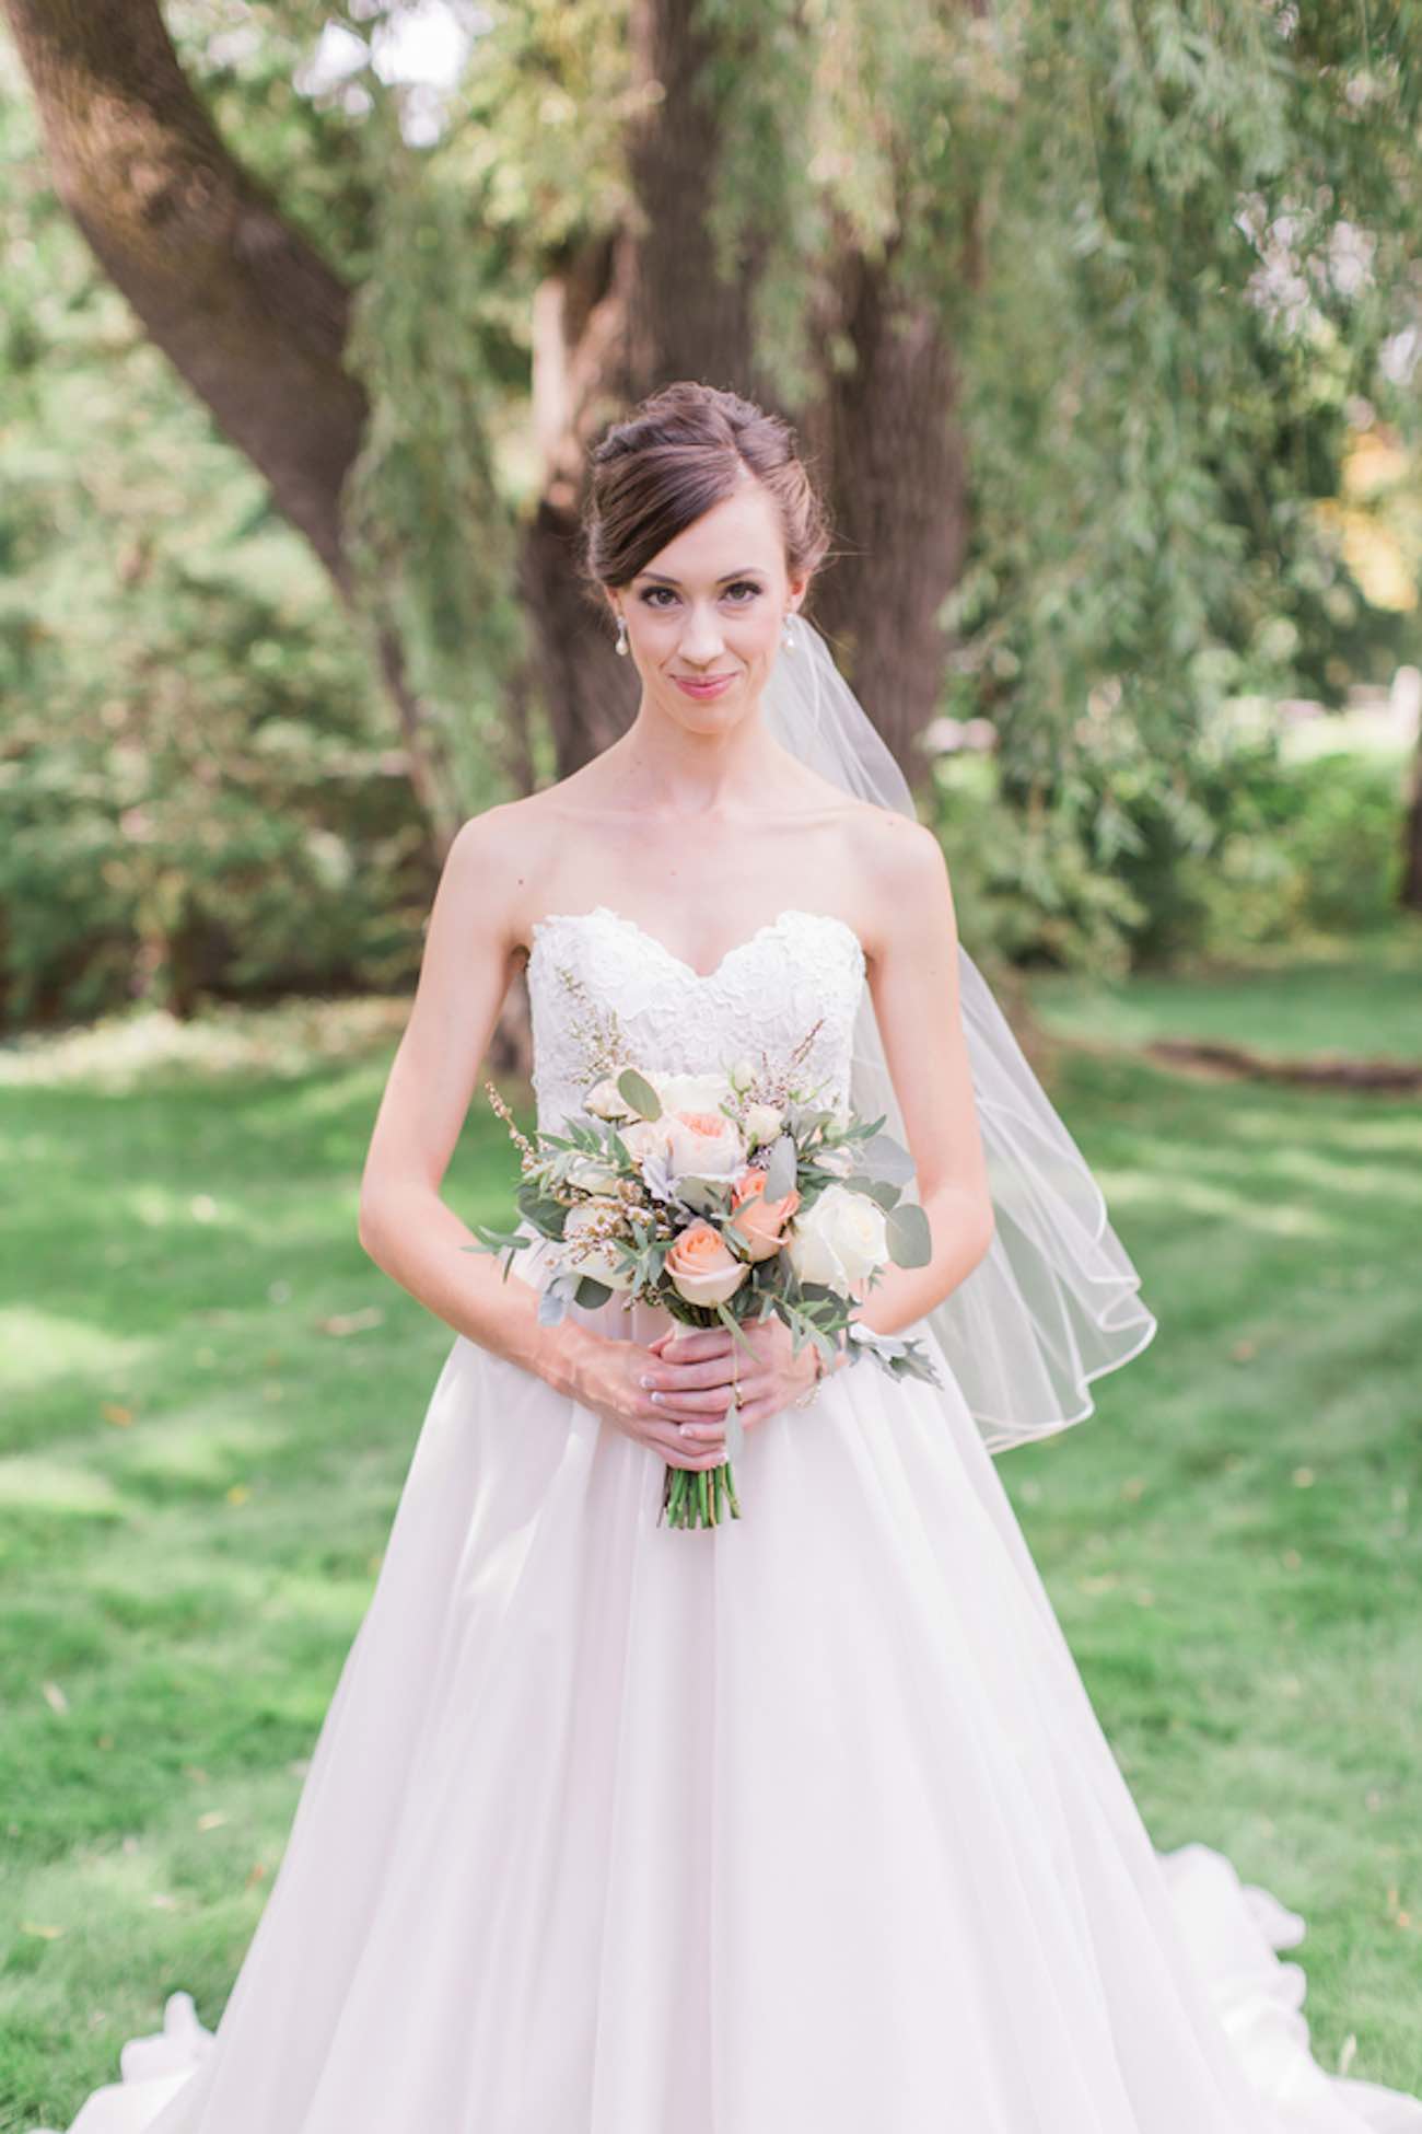
<path id="1" fill-rule="evenodd" d="M 1335 982 L 1298 1029 L 1352 1046 Z M 356 1242 L 388 1056 L 358 1007 L 0 1056 L 6 2134 L 173 1987 L 215 2027 L 281 1859 L 452 1338 Z M 1002 1479 L 1156 1842 L 1305 1912 L 1320 2061 L 1422 2091 L 1422 1108 L 1070 1050 L 1053 1095 L 1162 1327 Z M 475 1097 L 448 1197 L 512 1178 Z"/>

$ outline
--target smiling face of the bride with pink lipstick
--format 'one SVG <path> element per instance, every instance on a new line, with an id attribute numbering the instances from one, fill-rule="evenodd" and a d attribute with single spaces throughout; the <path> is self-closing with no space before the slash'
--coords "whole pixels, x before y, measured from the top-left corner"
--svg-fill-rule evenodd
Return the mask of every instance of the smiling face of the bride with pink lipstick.
<path id="1" fill-rule="evenodd" d="M 714 734 L 757 704 L 785 617 L 806 580 L 785 572 L 774 499 L 755 478 L 712 504 L 612 595 L 648 700 L 678 726 Z M 695 691 L 686 683 L 716 681 Z"/>

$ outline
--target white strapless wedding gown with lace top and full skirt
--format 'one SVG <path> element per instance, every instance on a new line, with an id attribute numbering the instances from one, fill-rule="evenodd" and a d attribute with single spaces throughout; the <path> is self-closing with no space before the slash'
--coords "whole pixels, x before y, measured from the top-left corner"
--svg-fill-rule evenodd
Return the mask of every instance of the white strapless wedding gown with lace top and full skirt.
<path id="1" fill-rule="evenodd" d="M 819 1022 L 846 1099 L 863 982 L 825 913 L 712 973 L 554 913 L 539 1122 L 612 1014 L 665 1069 Z M 934 1353 L 753 1430 L 686 1532 L 659 1455 L 456 1338 L 222 2021 L 173 1993 L 72 2134 L 1420 2134 L 1311 2057 L 1303 1921 L 1153 1850 Z"/>

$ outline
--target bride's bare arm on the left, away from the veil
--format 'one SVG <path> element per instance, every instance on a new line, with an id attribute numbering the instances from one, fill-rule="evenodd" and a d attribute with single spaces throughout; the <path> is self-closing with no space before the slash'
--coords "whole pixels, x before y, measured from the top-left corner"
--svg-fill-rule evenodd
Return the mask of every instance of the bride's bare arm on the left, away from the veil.
<path id="1" fill-rule="evenodd" d="M 492 1253 L 460 1251 L 473 1231 L 439 1197 L 516 967 L 503 888 L 516 809 L 471 817 L 450 845 L 365 1159 L 358 1233 L 375 1265 L 458 1334 L 578 1396 L 597 1336 L 569 1317 L 542 1325 L 533 1285 L 505 1280 Z"/>

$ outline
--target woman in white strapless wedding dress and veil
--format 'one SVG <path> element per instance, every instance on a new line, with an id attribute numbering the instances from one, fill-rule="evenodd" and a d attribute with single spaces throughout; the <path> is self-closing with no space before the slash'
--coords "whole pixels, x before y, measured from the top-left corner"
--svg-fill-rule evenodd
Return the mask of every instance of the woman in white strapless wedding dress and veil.
<path id="1" fill-rule="evenodd" d="M 998 1479 L 1156 1321 L 936 839 L 859 777 L 823 553 L 789 429 L 729 393 L 595 455 L 637 713 L 454 841 L 362 1180 L 454 1344 L 222 2021 L 173 1993 L 72 2134 L 1422 2130 L 1315 2064 L 1303 1923 L 1153 1850 Z M 857 1317 L 940 1383 L 778 1319 L 753 1364 L 616 1295 L 539 1319 L 533 1238 L 507 1278 L 469 1251 L 439 1184 L 520 958 L 546 1129 L 612 1026 L 689 1073 L 812 1033 L 834 1101 L 889 1099 L 932 1257 Z M 733 1406 L 742 1515 L 663 1524 Z"/>

